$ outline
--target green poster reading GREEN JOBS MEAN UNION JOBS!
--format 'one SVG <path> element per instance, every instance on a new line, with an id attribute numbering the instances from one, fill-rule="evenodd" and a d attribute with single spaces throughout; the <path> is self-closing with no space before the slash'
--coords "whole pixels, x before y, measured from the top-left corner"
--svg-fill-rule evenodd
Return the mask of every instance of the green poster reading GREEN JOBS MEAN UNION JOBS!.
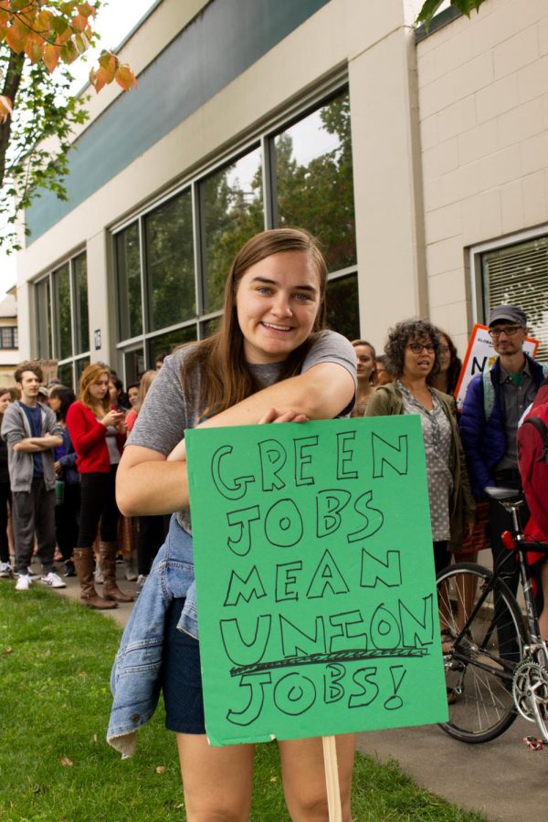
<path id="1" fill-rule="evenodd" d="M 210 743 L 447 722 L 419 417 L 186 448 Z"/>

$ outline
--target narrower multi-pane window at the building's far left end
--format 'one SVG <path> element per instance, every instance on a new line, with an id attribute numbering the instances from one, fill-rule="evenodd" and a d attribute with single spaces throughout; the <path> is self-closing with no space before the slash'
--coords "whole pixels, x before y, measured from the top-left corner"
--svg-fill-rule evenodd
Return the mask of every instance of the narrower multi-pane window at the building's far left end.
<path id="1" fill-rule="evenodd" d="M 75 387 L 90 363 L 86 255 L 69 259 L 35 286 L 37 356 L 58 360 L 58 378 Z"/>

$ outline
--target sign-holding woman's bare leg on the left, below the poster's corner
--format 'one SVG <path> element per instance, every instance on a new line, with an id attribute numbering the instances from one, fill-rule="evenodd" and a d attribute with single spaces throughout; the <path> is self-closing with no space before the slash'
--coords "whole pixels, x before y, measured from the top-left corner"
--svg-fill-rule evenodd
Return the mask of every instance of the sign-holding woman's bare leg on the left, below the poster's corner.
<path id="1" fill-rule="evenodd" d="M 255 746 L 212 748 L 205 734 L 175 735 L 188 822 L 248 822 Z"/>

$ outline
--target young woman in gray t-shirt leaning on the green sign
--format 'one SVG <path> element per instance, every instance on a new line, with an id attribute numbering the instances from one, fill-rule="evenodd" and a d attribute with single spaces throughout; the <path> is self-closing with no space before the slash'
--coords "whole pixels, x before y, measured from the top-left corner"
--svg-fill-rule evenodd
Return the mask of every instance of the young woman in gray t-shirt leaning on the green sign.
<path id="1" fill-rule="evenodd" d="M 348 414 L 356 359 L 350 342 L 323 331 L 326 281 L 321 251 L 306 232 L 280 228 L 252 237 L 228 272 L 219 330 L 165 359 L 121 460 L 121 511 L 127 516 L 175 514 L 121 640 L 112 671 L 108 739 L 132 754 L 136 729 L 152 715 L 161 684 L 166 725 L 177 734 L 189 820 L 248 819 L 254 746 L 212 748 L 205 737 L 181 434 L 198 425 Z M 186 560 L 164 575 L 169 591 L 158 583 L 158 569 L 169 563 L 164 562 L 167 550 L 169 556 L 180 550 Z M 337 738 L 345 822 L 351 819 L 353 748 L 353 734 Z M 279 742 L 279 751 L 291 818 L 327 820 L 321 738 Z"/>

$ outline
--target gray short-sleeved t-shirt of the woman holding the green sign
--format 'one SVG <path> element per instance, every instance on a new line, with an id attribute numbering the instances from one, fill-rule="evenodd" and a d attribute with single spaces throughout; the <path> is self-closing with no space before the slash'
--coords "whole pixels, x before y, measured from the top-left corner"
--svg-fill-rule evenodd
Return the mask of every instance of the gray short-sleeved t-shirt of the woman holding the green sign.
<path id="1" fill-rule="evenodd" d="M 142 409 L 127 441 L 128 445 L 151 448 L 165 457 L 184 437 L 186 428 L 194 428 L 199 414 L 199 375 L 193 380 L 186 394 L 183 392 L 181 374 L 184 360 L 192 351 L 191 346 L 180 348 L 163 361 L 163 366 L 146 395 Z M 311 346 L 301 374 L 321 363 L 342 365 L 356 380 L 356 355 L 353 346 L 341 334 L 325 331 L 318 334 Z M 279 381 L 281 364 L 249 365 L 261 385 L 267 388 Z M 342 409 L 339 416 L 348 416 L 353 402 Z M 177 521 L 190 532 L 189 511 L 177 511 Z"/>

